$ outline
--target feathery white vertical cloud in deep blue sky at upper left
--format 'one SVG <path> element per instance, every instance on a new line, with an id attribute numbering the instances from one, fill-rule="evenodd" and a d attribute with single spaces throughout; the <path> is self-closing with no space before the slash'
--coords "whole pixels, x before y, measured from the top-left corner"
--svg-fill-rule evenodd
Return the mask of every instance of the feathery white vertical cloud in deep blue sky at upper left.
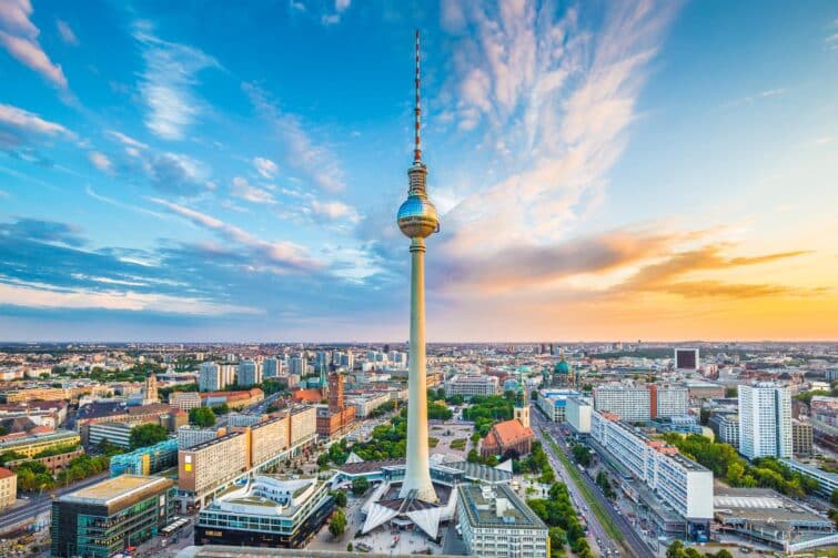
<path id="1" fill-rule="evenodd" d="M 158 39 L 149 28 L 140 22 L 134 32 L 145 61 L 140 82 L 148 105 L 145 125 L 160 138 L 181 140 L 203 111 L 192 91 L 198 84 L 195 75 L 203 69 L 219 68 L 219 63 L 199 49 Z"/>

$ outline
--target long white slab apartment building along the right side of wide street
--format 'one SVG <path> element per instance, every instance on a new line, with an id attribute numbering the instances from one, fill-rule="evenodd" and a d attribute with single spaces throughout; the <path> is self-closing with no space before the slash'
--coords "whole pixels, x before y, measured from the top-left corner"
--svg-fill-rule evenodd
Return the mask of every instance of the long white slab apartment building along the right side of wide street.
<path id="1" fill-rule="evenodd" d="M 690 523 L 713 519 L 713 471 L 653 440 L 615 416 L 594 412 L 590 435 L 599 446 Z"/>

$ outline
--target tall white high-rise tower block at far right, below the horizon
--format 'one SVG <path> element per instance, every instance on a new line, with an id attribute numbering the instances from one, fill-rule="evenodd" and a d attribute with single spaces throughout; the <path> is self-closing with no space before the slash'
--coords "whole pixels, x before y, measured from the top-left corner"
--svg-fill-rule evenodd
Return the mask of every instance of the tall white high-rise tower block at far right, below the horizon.
<path id="1" fill-rule="evenodd" d="M 771 383 L 739 386 L 739 453 L 757 457 L 792 457 L 791 394 Z"/>

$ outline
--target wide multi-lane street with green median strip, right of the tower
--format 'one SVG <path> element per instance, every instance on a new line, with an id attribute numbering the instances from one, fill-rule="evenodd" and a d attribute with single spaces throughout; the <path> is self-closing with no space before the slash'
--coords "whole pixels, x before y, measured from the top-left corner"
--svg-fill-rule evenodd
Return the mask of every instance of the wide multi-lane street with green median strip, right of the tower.
<path id="1" fill-rule="evenodd" d="M 600 524 L 596 514 L 590 510 L 590 507 L 585 500 L 585 497 L 579 491 L 579 487 L 576 486 L 574 477 L 567 473 L 562 460 L 558 459 L 558 456 L 555 454 L 553 445 L 549 443 L 551 440 L 548 440 L 542 433 L 542 427 L 551 432 L 558 447 L 562 448 L 563 452 L 565 452 L 565 455 L 568 455 L 566 443 L 562 437 L 558 425 L 547 420 L 546 417 L 544 417 L 544 415 L 542 415 L 541 412 L 535 408 L 535 406 L 532 407 L 531 417 L 533 418 L 533 425 L 535 426 L 535 428 L 533 429 L 535 430 L 538 439 L 541 439 L 551 465 L 556 470 L 558 477 L 562 478 L 562 480 L 567 485 L 573 503 L 578 507 L 579 510 L 582 510 L 583 514 L 585 514 L 585 518 L 588 523 L 588 529 L 594 534 L 597 540 L 602 540 L 602 544 L 599 545 L 600 555 L 607 556 L 608 552 L 614 555 L 620 548 L 628 547 L 628 550 L 630 550 L 632 554 L 634 554 L 634 556 L 636 556 L 637 558 L 653 558 L 655 554 L 652 551 L 652 549 L 649 549 L 649 547 L 640 539 L 640 537 L 632 528 L 632 526 L 628 525 L 626 519 L 614 510 L 613 505 L 599 491 L 599 488 L 594 484 L 594 481 L 587 475 L 580 475 L 583 481 L 587 483 L 589 493 L 592 493 L 594 497 L 597 498 L 602 507 L 606 510 L 610 519 L 617 526 L 617 529 L 623 532 L 625 537 L 624 545 L 619 545 L 619 542 L 613 540 L 607 536 L 605 528 Z"/>

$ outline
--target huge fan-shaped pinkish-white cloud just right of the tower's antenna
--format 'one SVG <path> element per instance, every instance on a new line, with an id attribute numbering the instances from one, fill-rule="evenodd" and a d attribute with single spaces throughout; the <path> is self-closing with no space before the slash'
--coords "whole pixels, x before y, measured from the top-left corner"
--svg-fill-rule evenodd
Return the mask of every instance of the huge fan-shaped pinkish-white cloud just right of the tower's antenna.
<path id="1" fill-rule="evenodd" d="M 445 215 L 443 250 L 492 257 L 556 243 L 602 202 L 647 63 L 677 8 L 614 2 L 589 18 L 579 13 L 593 9 L 587 4 L 558 16 L 553 4 L 529 0 L 457 4 L 444 14 L 446 29 L 473 32 L 455 43 L 450 89 L 460 94 L 450 110 L 461 130 L 484 123 L 479 143 L 504 164 L 477 180 L 487 187 L 448 192 L 458 203 Z M 485 242 L 486 231 L 495 242 Z"/>

